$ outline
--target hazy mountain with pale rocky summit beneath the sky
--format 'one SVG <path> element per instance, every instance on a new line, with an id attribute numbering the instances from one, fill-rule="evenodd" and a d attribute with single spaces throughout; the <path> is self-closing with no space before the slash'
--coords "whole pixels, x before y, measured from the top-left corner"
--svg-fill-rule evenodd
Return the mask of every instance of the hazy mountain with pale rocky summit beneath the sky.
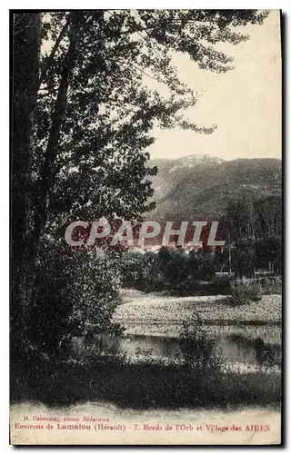
<path id="1" fill-rule="evenodd" d="M 281 194 L 279 159 L 224 161 L 210 155 L 152 160 L 156 210 L 148 218 L 167 220 L 218 219 L 228 202 L 243 194 L 256 200 Z"/>

